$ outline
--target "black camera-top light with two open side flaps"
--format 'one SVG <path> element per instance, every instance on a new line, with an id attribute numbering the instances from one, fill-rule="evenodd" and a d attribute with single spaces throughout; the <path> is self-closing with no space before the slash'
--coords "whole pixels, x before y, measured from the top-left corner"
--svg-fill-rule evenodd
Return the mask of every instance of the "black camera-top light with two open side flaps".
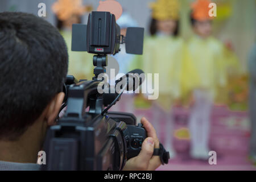
<path id="1" fill-rule="evenodd" d="M 73 24 L 72 51 L 87 51 L 97 55 L 115 55 L 125 43 L 126 53 L 142 55 L 144 28 L 128 27 L 126 36 L 120 35 L 115 16 L 109 12 L 92 11 L 88 24 Z"/>

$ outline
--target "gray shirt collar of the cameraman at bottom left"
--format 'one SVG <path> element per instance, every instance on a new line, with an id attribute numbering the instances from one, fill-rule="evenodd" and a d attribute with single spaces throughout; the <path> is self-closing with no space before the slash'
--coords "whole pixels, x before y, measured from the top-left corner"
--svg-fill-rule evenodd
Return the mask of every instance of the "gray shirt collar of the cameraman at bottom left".
<path id="1" fill-rule="evenodd" d="M 40 171 L 40 164 L 0 161 L 0 171 Z"/>

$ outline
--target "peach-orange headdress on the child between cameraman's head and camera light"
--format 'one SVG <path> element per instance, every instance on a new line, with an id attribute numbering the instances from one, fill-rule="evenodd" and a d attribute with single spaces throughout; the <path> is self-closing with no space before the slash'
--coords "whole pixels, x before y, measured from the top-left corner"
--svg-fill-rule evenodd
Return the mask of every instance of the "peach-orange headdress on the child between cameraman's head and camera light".
<path id="1" fill-rule="evenodd" d="M 67 20 L 73 14 L 82 15 L 91 9 L 91 6 L 82 5 L 81 0 L 58 0 L 52 5 L 52 11 L 60 20 Z"/>

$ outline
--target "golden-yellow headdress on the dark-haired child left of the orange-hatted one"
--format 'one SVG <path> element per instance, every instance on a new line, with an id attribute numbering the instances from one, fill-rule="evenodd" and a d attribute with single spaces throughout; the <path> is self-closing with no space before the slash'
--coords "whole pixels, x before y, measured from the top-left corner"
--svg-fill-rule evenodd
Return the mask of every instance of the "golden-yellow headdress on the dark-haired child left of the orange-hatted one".
<path id="1" fill-rule="evenodd" d="M 180 4 L 177 0 L 157 0 L 156 2 L 150 3 L 152 9 L 152 18 L 157 20 L 174 19 L 180 18 Z"/>

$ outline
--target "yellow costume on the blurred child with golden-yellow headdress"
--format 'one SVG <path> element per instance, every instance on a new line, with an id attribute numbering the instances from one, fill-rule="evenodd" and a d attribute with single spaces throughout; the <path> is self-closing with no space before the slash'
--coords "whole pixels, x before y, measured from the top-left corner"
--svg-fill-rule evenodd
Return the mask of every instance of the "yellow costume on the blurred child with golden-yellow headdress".
<path id="1" fill-rule="evenodd" d="M 169 110 L 172 101 L 181 96 L 181 68 L 184 60 L 184 42 L 172 36 L 153 36 L 144 41 L 142 56 L 133 67 L 145 73 L 159 74 L 159 104 Z"/>

